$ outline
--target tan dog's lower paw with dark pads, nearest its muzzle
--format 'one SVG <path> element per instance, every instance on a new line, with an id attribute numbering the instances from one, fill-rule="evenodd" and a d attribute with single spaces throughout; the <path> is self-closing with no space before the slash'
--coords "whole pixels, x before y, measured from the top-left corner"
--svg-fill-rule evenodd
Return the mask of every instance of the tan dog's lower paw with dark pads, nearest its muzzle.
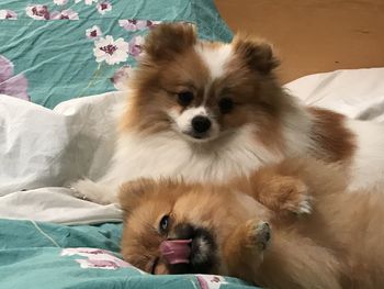
<path id="1" fill-rule="evenodd" d="M 246 246 L 262 252 L 271 240 L 271 227 L 267 222 L 249 220 L 246 223 Z"/>

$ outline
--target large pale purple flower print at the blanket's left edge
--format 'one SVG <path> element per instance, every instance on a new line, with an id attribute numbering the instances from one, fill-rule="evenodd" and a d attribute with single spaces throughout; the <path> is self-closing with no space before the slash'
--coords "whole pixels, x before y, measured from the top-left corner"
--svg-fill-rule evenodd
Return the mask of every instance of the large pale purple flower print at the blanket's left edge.
<path id="1" fill-rule="evenodd" d="M 13 76 L 13 64 L 0 55 L 0 93 L 30 100 L 27 80 L 20 74 Z"/>

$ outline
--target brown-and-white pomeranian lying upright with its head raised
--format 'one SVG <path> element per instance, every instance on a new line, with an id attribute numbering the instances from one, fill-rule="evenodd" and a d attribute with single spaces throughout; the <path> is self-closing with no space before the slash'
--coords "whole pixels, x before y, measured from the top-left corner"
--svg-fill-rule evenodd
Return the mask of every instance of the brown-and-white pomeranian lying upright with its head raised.
<path id="1" fill-rule="evenodd" d="M 206 42 L 190 24 L 161 24 L 144 52 L 111 167 L 74 185 L 88 199 L 116 202 L 118 187 L 138 177 L 223 182 L 307 155 L 345 164 L 352 187 L 384 178 L 384 125 L 301 105 L 276 80 L 266 42 Z"/>

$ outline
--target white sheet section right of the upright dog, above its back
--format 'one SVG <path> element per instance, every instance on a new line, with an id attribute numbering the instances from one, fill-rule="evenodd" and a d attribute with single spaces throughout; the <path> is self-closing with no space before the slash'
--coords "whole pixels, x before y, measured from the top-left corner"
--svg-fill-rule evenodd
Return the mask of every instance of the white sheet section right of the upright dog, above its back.
<path id="1" fill-rule="evenodd" d="M 285 87 L 305 104 L 331 109 L 352 119 L 384 121 L 384 68 L 310 75 Z"/>

